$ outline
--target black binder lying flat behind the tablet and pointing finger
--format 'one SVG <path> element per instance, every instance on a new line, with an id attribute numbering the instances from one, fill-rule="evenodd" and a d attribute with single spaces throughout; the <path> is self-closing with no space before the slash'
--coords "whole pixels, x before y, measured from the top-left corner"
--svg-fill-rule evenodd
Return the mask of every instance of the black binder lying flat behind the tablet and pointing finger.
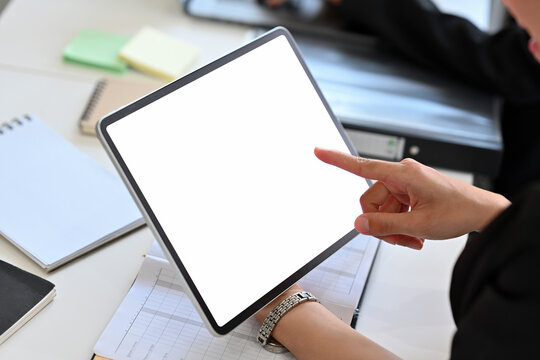
<path id="1" fill-rule="evenodd" d="M 408 62 L 375 39 L 296 38 L 361 155 L 498 173 L 503 143 L 496 96 Z"/>

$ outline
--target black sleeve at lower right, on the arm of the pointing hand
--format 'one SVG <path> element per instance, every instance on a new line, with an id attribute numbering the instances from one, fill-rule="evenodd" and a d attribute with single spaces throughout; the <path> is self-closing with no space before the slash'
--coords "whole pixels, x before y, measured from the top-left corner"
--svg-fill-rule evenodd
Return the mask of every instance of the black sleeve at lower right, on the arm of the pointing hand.
<path id="1" fill-rule="evenodd" d="M 539 359 L 540 184 L 467 242 L 452 277 L 452 359 Z"/>

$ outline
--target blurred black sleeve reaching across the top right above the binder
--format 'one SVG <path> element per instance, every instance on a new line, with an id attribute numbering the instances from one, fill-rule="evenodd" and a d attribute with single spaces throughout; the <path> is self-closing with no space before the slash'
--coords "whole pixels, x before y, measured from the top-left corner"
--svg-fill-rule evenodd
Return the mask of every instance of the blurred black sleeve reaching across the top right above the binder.
<path id="1" fill-rule="evenodd" d="M 375 34 L 417 63 L 510 101 L 540 100 L 540 65 L 518 26 L 488 34 L 429 0 L 343 0 L 339 11 L 350 26 Z"/>

